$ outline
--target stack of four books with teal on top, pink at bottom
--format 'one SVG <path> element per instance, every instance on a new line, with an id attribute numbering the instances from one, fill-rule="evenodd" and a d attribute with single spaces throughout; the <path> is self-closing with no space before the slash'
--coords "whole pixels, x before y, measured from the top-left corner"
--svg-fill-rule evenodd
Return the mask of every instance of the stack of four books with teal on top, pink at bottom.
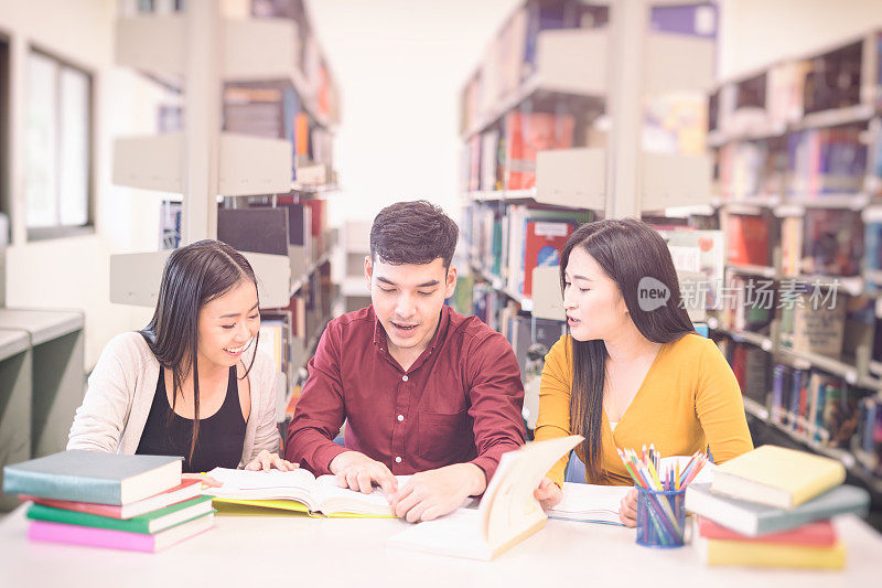
<path id="1" fill-rule="evenodd" d="M 32 501 L 31 541 L 158 552 L 214 526 L 211 496 L 181 458 L 72 450 L 3 468 L 3 491 Z"/>

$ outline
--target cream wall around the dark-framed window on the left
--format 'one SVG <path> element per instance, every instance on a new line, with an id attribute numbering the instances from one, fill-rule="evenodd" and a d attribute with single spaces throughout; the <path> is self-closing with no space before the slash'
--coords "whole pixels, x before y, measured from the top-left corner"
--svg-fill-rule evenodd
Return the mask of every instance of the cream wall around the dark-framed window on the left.
<path id="1" fill-rule="evenodd" d="M 86 313 L 86 368 L 107 341 L 140 328 L 150 309 L 111 304 L 111 253 L 154 250 L 159 240 L 155 193 L 114 186 L 112 138 L 155 131 L 153 106 L 162 98 L 154 84 L 115 67 L 115 0 L 0 0 L 0 30 L 11 38 L 12 109 L 11 200 L 13 245 L 7 249 L 6 302 L 9 307 L 76 308 Z M 28 179 L 23 159 L 24 56 L 37 44 L 93 73 L 95 117 L 96 232 L 72 238 L 26 242 L 22 195 Z"/>

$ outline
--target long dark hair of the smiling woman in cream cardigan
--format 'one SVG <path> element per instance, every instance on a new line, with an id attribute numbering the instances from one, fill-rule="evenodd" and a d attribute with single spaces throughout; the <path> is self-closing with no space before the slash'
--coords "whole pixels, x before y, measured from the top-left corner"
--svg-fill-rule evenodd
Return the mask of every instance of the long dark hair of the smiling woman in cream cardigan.
<path id="1" fill-rule="evenodd" d="M 241 281 L 257 288 L 251 265 L 239 252 L 219 240 L 205 239 L 172 252 L 162 271 L 157 309 L 140 333 L 164 370 L 172 372 L 172 411 L 183 383 L 193 374 L 193 435 L 187 460 L 193 459 L 200 434 L 198 313 Z M 257 341 L 255 341 L 257 345 Z M 246 377 L 254 365 L 245 372 Z"/>

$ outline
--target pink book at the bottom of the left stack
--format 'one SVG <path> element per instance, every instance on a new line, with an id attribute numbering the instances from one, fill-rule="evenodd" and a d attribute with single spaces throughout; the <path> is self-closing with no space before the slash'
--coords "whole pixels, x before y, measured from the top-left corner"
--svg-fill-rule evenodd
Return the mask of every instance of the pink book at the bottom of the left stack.
<path id="1" fill-rule="evenodd" d="M 31 541 L 154 553 L 198 535 L 213 526 L 214 513 L 200 516 L 198 518 L 187 521 L 186 523 L 182 523 L 153 535 L 79 525 L 65 525 L 62 523 L 49 523 L 46 521 L 32 521 L 31 525 L 28 527 L 28 537 Z"/>

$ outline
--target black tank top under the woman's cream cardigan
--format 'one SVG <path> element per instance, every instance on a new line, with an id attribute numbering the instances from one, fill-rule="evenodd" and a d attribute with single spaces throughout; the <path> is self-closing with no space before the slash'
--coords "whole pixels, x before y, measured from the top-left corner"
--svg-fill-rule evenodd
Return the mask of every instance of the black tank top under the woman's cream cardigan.
<path id="1" fill-rule="evenodd" d="M 171 420 L 169 420 L 171 415 Z M 236 468 L 241 460 L 245 442 L 245 417 L 239 403 L 236 367 L 229 368 L 229 381 L 224 404 L 214 415 L 200 419 L 200 434 L 193 459 L 187 460 L 193 438 L 193 419 L 172 410 L 165 395 L 165 377 L 159 368 L 157 392 L 141 434 L 136 453 L 150 456 L 183 456 L 185 473 L 207 472 L 214 468 Z"/>

